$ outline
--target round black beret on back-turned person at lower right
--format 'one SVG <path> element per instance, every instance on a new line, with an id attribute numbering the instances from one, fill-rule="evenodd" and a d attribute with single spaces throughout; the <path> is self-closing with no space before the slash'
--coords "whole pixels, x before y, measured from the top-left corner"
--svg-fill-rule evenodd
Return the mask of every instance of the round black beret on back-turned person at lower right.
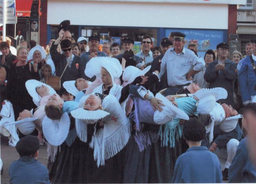
<path id="1" fill-rule="evenodd" d="M 193 118 L 185 123 L 183 135 L 186 140 L 198 142 L 206 136 L 206 129 L 200 120 Z"/>

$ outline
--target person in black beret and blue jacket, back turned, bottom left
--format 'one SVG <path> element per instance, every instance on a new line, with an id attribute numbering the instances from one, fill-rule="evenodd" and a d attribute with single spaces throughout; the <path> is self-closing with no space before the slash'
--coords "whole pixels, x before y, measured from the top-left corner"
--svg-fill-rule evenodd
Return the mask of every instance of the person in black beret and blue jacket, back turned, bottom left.
<path id="1" fill-rule="evenodd" d="M 38 162 L 39 141 L 27 135 L 19 140 L 16 150 L 20 155 L 9 168 L 10 183 L 50 183 L 48 169 Z"/>

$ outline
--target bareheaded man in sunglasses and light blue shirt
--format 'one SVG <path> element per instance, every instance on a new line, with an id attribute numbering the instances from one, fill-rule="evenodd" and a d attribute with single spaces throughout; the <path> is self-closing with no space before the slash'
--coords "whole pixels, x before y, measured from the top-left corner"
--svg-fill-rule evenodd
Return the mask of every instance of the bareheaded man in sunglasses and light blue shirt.
<path id="1" fill-rule="evenodd" d="M 150 36 L 145 35 L 142 39 L 142 51 L 137 53 L 136 55 L 139 56 L 145 64 L 151 63 L 153 61 L 153 53 L 150 50 L 152 45 L 152 39 Z"/>

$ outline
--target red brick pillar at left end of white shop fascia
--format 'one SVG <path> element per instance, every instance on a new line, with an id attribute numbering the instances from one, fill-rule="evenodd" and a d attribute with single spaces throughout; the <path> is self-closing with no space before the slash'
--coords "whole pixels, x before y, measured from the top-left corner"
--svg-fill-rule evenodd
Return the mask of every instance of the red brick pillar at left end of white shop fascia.
<path id="1" fill-rule="evenodd" d="M 41 0 L 39 44 L 45 46 L 47 43 L 47 1 Z"/>

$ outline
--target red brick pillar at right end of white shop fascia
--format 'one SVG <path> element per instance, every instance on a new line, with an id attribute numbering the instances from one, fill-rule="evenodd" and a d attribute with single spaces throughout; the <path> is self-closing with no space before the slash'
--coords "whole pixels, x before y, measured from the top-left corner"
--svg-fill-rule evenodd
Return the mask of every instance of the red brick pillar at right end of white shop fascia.
<path id="1" fill-rule="evenodd" d="M 237 5 L 228 5 L 228 40 L 229 34 L 236 34 L 237 30 Z"/>

